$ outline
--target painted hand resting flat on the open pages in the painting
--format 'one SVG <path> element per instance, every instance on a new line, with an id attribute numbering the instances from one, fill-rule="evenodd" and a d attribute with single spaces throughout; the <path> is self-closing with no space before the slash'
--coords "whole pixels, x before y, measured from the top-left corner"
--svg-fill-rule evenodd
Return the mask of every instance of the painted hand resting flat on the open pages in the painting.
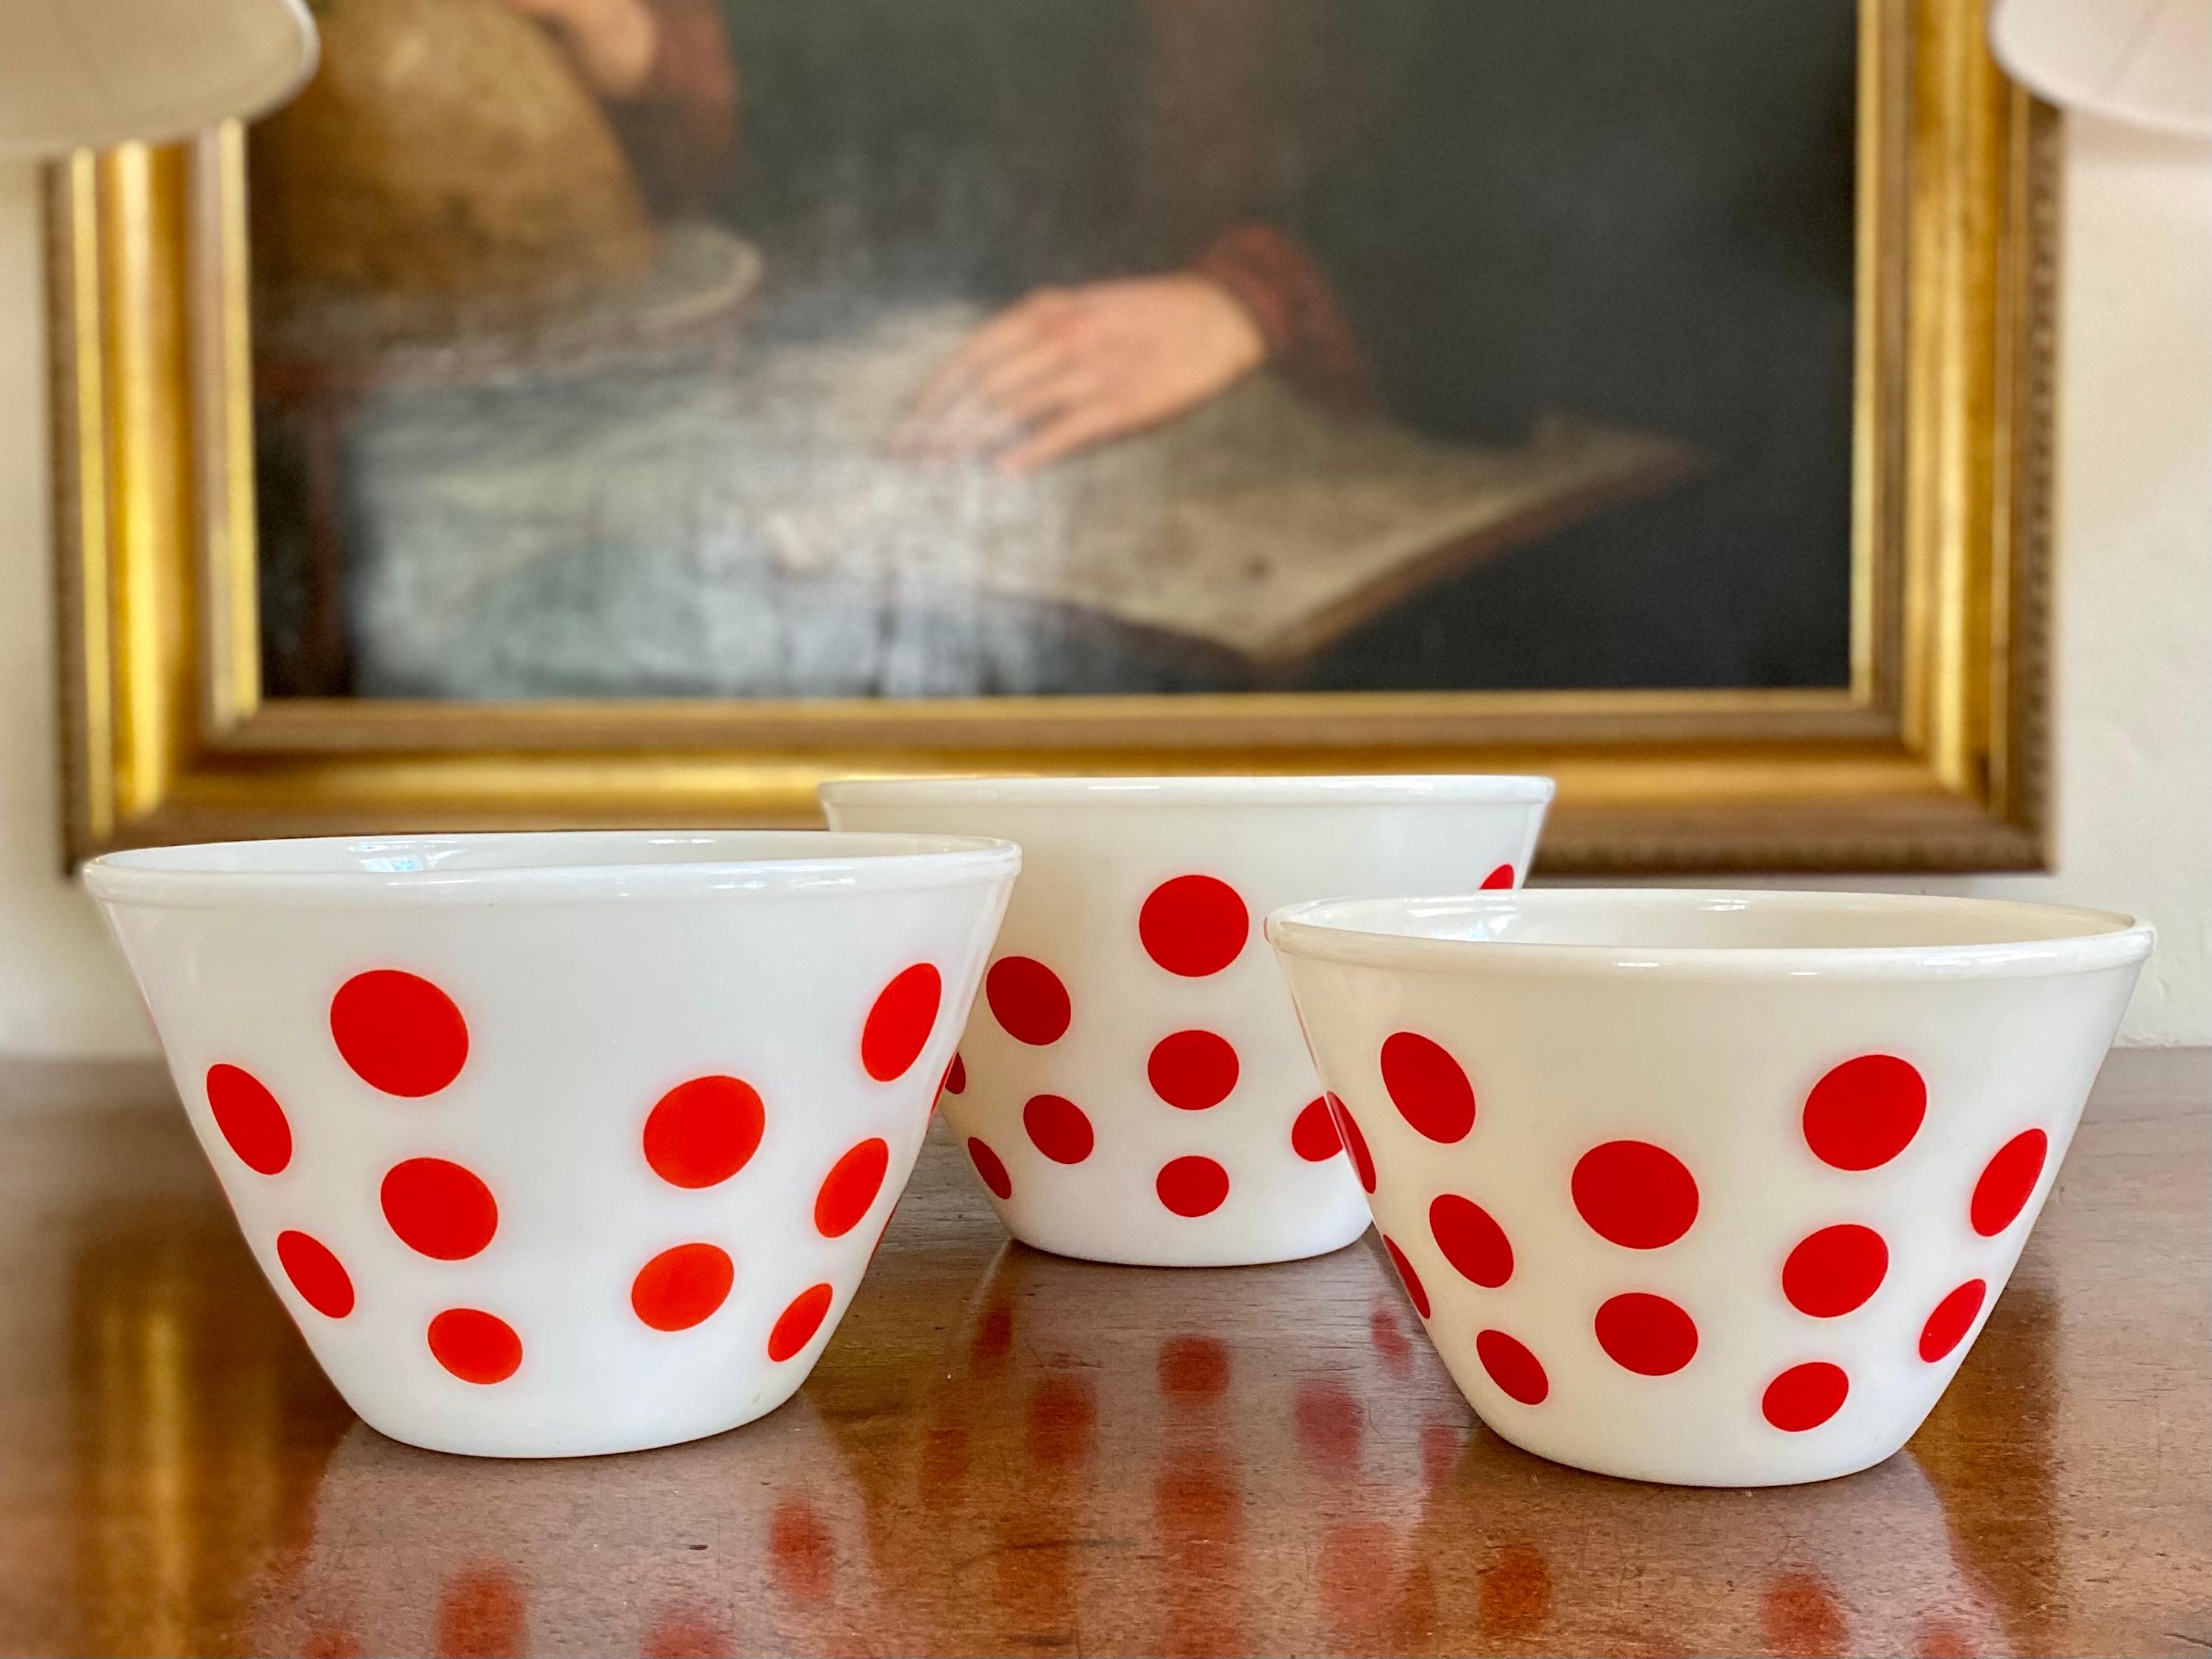
<path id="1" fill-rule="evenodd" d="M 1206 276 L 1040 288 L 929 378 L 894 447 L 1026 473 L 1197 409 L 1265 356 L 1252 316 Z"/>

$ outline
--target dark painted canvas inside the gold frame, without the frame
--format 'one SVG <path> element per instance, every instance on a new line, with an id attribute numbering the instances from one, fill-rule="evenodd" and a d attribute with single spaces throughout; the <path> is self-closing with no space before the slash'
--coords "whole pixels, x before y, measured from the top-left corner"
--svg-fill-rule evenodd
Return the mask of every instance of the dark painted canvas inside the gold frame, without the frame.
<path id="1" fill-rule="evenodd" d="M 272 697 L 1849 684 L 1849 0 L 316 11 Z"/>

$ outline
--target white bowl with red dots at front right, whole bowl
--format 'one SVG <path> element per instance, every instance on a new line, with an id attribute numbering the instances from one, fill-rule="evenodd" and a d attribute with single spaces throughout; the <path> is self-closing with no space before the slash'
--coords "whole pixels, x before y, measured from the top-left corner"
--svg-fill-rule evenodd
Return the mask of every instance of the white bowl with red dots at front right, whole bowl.
<path id="1" fill-rule="evenodd" d="M 1717 1486 L 1920 1427 L 2150 953 L 2106 911 L 1785 891 L 1314 902 L 1267 933 L 1478 1416 Z"/>

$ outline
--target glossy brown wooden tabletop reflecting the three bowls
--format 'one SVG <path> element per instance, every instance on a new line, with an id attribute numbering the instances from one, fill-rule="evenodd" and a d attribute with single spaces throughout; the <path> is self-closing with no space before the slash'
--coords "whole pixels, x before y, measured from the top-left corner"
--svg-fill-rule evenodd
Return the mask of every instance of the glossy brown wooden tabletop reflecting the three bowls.
<path id="1" fill-rule="evenodd" d="M 1865 1475 L 1672 1491 L 1475 1427 L 1367 1241 L 1004 1241 L 942 1133 L 801 1396 L 471 1462 L 321 1380 L 166 1086 L 0 1068 L 4 1652 L 2203 1652 L 2203 1053 L 2115 1055 L 1951 1394 Z"/>

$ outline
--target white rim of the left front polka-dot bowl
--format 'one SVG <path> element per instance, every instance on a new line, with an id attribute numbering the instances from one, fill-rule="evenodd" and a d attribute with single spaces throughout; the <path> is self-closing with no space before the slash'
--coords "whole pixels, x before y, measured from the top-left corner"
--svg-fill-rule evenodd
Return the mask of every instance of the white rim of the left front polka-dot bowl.
<path id="1" fill-rule="evenodd" d="M 438 867 L 440 852 L 487 852 L 513 863 Z M 641 860 L 626 847 L 723 845 L 728 858 Z M 781 849 L 790 852 L 781 852 Z M 816 852 L 818 847 L 818 852 Z M 257 849 L 332 860 L 389 858 L 400 867 L 254 869 Z M 604 852 L 551 858 L 553 852 Z M 535 852 L 538 858 L 529 858 Z M 425 856 L 431 854 L 431 856 Z M 606 898 L 703 898 L 710 894 L 925 891 L 1011 883 L 1022 849 L 989 836 L 876 830 L 471 830 L 394 836 L 283 836 L 131 847 L 82 867 L 102 905 L 480 905 Z"/>

